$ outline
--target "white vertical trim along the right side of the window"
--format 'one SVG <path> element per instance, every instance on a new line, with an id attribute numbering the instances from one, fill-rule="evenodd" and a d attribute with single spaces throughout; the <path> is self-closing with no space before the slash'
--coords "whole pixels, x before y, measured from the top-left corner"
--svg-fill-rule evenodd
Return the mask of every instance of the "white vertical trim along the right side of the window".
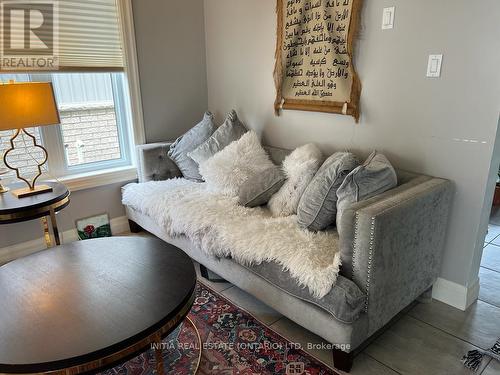
<path id="1" fill-rule="evenodd" d="M 120 25 L 123 38 L 123 49 L 125 55 L 125 72 L 127 73 L 130 92 L 132 124 L 134 131 L 134 143 L 142 145 L 146 143 L 144 130 L 144 116 L 142 112 L 141 85 L 139 80 L 139 62 L 137 59 L 137 48 L 135 42 L 134 15 L 132 12 L 132 0 L 118 1 Z"/>

